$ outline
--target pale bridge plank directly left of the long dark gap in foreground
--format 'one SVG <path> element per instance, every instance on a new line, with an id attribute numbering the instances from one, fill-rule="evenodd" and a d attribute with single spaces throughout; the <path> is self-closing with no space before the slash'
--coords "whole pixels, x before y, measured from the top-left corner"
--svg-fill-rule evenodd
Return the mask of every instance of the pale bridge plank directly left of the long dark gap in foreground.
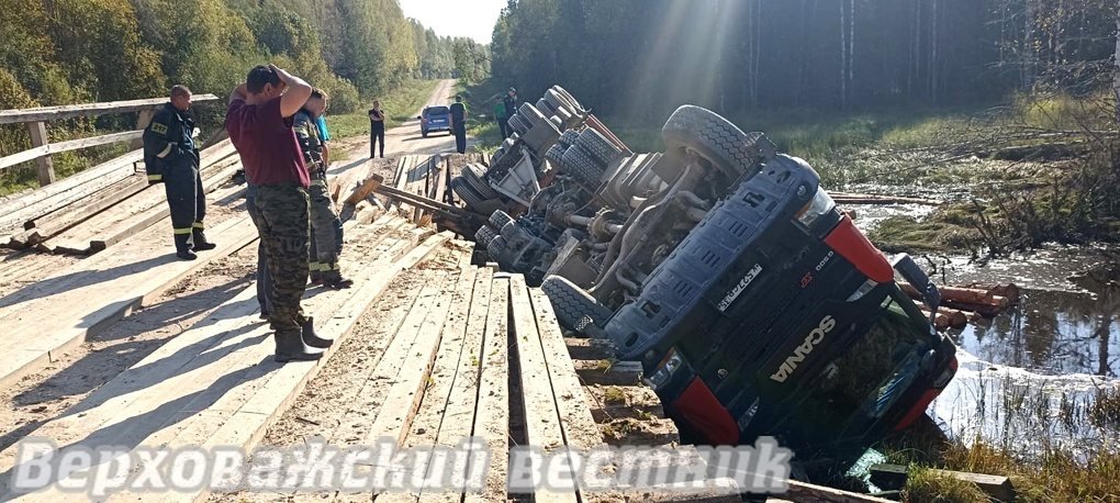
<path id="1" fill-rule="evenodd" d="M 465 501 L 472 503 L 506 500 L 505 477 L 510 466 L 508 299 L 510 280 L 494 278 L 483 339 L 478 404 L 472 430 L 473 436 L 483 437 L 486 441 L 491 459 L 483 491 L 466 494 Z M 467 473 L 476 469 L 478 467 L 470 466 Z"/>

